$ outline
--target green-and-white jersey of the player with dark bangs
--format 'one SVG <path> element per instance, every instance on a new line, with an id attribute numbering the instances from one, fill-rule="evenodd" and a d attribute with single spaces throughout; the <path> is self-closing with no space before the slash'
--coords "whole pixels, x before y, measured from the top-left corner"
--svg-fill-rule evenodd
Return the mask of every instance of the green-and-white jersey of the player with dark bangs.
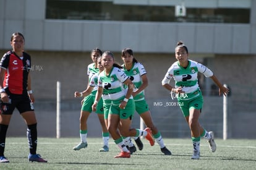
<path id="1" fill-rule="evenodd" d="M 134 83 L 134 91 L 137 90 L 142 85 L 142 75 L 147 74 L 144 66 L 140 62 L 135 62 L 132 66 L 132 69 L 127 70 L 123 66 L 124 73 L 130 77 L 130 80 Z M 141 91 L 138 95 L 134 96 L 134 101 L 139 101 L 144 99 L 144 90 Z"/>

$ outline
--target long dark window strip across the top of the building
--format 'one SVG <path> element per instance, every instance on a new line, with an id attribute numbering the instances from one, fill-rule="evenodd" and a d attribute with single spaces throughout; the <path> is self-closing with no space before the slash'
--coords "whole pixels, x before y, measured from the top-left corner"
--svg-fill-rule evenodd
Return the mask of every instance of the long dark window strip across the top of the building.
<path id="1" fill-rule="evenodd" d="M 132 6 L 106 1 L 47 0 L 46 19 L 249 23 L 250 9 L 187 8 L 186 17 L 176 17 L 174 6 Z"/>

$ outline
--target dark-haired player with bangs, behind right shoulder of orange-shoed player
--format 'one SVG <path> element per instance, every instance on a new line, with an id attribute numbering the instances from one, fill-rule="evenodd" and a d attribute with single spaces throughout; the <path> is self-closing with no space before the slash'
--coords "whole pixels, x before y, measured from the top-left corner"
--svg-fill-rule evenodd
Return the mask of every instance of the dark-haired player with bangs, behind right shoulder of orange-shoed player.
<path id="1" fill-rule="evenodd" d="M 153 137 L 158 145 L 160 145 L 161 151 L 164 155 L 171 155 L 171 151 L 169 151 L 164 145 L 160 132 L 153 124 L 151 113 L 149 111 L 147 101 L 145 100 L 144 89 L 148 86 L 147 72 L 145 68 L 135 59 L 134 53 L 130 48 L 122 49 L 122 61 L 124 61 L 124 65 L 122 65 L 124 73 L 130 77 L 130 80 L 132 80 L 135 86 L 132 93 L 135 102 L 135 110 L 140 117 L 142 117 L 147 127 L 151 129 Z M 135 138 L 136 143 L 137 140 L 138 139 Z M 137 143 L 137 145 L 139 147 L 140 143 Z M 153 145 L 153 143 L 151 143 L 151 145 Z"/>

